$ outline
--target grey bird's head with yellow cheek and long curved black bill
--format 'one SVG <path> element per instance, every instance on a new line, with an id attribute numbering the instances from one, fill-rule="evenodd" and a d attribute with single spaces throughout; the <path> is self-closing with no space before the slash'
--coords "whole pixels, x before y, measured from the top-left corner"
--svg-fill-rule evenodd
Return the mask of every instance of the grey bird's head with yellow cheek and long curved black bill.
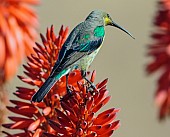
<path id="1" fill-rule="evenodd" d="M 104 12 L 104 11 L 94 10 L 89 14 L 89 16 L 86 18 L 86 20 L 97 21 L 98 23 L 102 23 L 105 26 L 116 27 L 116 28 L 124 31 L 128 35 L 130 35 L 132 38 L 134 38 L 127 30 L 125 30 L 123 27 L 116 24 L 112 20 L 111 16 L 108 13 Z"/>

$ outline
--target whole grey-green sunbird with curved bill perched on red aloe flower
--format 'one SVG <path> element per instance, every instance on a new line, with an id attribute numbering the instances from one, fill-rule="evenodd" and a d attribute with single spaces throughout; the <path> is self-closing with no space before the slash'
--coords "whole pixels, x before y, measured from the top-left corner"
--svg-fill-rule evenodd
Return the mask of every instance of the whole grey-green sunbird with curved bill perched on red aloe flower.
<path id="1" fill-rule="evenodd" d="M 86 78 L 86 72 L 102 47 L 105 37 L 105 26 L 116 27 L 134 38 L 127 30 L 113 22 L 108 13 L 101 10 L 92 11 L 69 34 L 59 52 L 50 76 L 33 95 L 33 102 L 41 102 L 53 85 L 63 76 L 66 76 L 66 88 L 67 92 L 70 93 L 68 75 L 75 69 L 80 69 L 82 78 L 94 87 Z"/>

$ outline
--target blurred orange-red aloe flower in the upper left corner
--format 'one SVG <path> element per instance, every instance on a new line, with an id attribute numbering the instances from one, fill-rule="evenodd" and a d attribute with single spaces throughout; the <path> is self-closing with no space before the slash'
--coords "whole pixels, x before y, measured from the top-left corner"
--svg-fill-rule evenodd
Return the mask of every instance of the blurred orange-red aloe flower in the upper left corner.
<path id="1" fill-rule="evenodd" d="M 0 0 L 0 84 L 9 80 L 25 55 L 32 52 L 38 20 L 30 6 L 38 3 L 39 0 Z"/>

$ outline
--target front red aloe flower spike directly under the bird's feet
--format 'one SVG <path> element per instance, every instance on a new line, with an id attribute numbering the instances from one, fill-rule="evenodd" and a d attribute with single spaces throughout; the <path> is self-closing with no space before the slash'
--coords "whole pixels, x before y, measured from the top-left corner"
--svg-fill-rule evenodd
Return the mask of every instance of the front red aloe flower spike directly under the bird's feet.
<path id="1" fill-rule="evenodd" d="M 93 91 L 93 95 L 87 93 L 87 85 L 79 84 L 79 89 L 74 90 L 71 97 L 62 99 L 62 110 L 56 109 L 57 118 L 49 120 L 55 133 L 44 134 L 48 137 L 111 136 L 119 127 L 119 120 L 114 121 L 119 109 L 111 108 L 95 116 L 95 113 L 110 100 L 110 96 L 107 96 L 106 82 L 107 79 L 99 83 L 96 86 L 99 92 Z"/>

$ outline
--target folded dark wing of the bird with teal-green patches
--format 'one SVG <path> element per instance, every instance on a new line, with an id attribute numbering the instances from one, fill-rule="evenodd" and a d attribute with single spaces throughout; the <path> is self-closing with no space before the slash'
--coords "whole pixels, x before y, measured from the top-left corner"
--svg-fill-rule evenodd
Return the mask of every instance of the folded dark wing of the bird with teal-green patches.
<path id="1" fill-rule="evenodd" d="M 77 31 L 77 29 L 75 30 Z M 86 24 L 81 24 L 78 27 L 78 31 L 73 34 L 73 39 L 68 38 L 69 46 L 65 46 L 59 53 L 59 63 L 57 63 L 52 71 L 52 75 L 60 72 L 64 68 L 72 65 L 82 57 L 91 54 L 93 51 L 98 49 L 102 44 L 103 37 L 95 37 L 94 30 L 90 26 L 86 26 Z M 88 37 L 85 37 L 87 36 Z"/>

